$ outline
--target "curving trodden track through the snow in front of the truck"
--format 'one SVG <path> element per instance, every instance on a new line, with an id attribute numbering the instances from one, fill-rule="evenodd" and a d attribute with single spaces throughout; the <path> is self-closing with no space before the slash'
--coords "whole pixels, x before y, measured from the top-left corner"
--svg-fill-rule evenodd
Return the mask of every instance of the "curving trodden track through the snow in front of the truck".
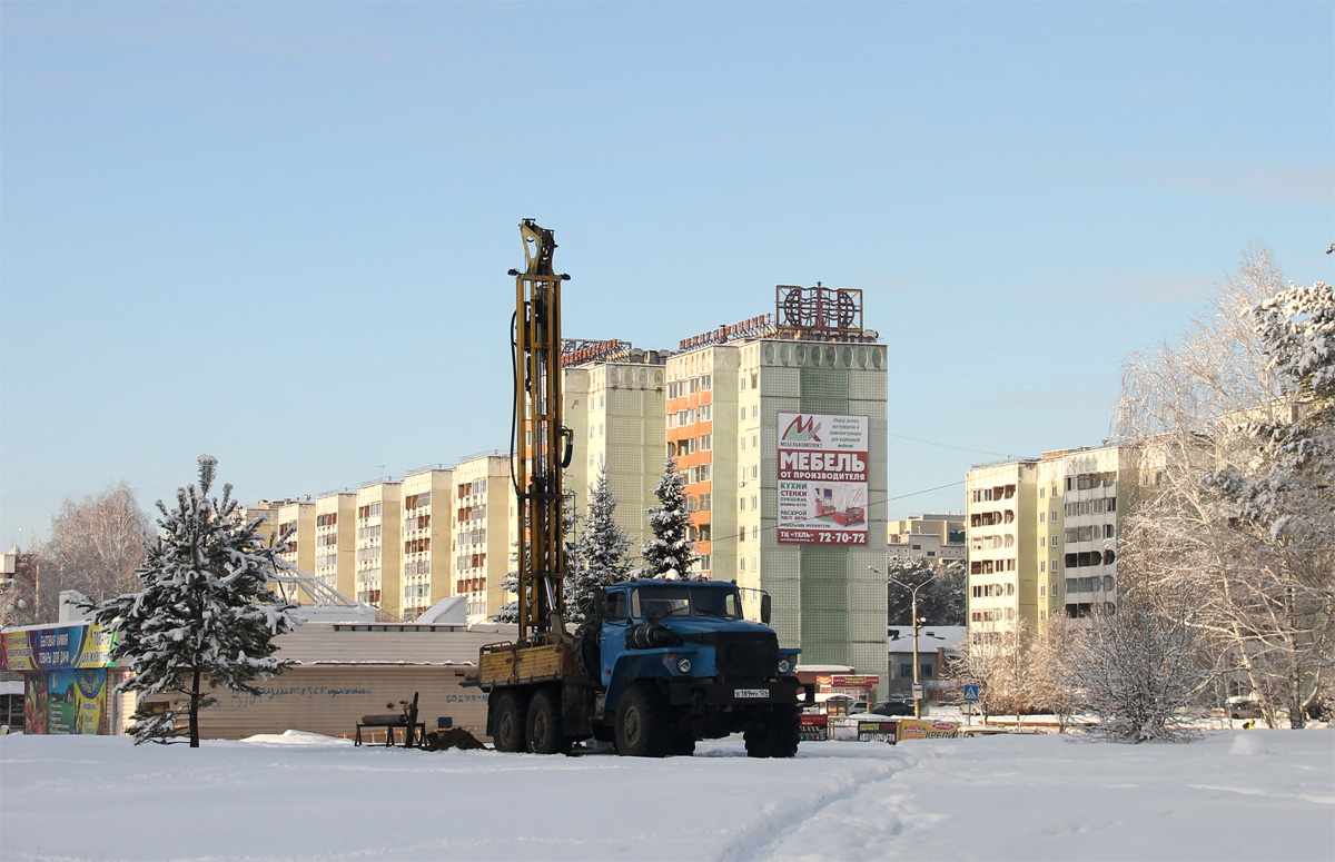
<path id="1" fill-rule="evenodd" d="M 768 859 L 789 835 L 802 829 L 829 806 L 856 797 L 866 785 L 889 778 L 916 763 L 917 759 L 912 755 L 866 763 L 809 786 L 808 790 L 812 793 L 769 802 L 760 809 L 753 821 L 738 827 L 717 859 L 718 862 Z"/>

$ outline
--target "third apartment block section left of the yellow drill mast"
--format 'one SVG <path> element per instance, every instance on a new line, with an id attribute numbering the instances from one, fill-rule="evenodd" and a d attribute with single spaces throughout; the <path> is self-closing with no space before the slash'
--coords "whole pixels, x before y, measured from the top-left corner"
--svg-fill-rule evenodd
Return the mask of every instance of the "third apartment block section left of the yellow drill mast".
<path id="1" fill-rule="evenodd" d="M 402 615 L 403 483 L 366 482 L 356 492 L 356 600 L 391 619 Z"/>

